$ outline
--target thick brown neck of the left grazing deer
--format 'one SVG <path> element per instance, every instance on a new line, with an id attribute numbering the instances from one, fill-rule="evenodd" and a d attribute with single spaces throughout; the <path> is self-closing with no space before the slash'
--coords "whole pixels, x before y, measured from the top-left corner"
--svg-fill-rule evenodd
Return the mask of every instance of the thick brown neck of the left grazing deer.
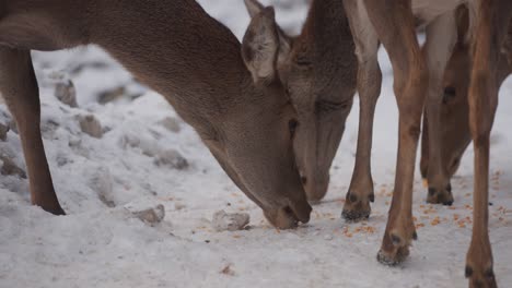
<path id="1" fill-rule="evenodd" d="M 91 41 L 162 94 L 193 125 L 244 101 L 251 75 L 236 37 L 193 0 L 101 0 Z"/>

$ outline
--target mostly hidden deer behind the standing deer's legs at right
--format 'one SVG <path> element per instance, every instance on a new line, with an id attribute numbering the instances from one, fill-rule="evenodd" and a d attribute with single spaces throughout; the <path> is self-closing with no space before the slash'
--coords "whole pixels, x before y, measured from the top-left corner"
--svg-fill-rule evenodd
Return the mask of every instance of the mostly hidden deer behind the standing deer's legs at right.
<path id="1" fill-rule="evenodd" d="M 469 104 L 468 87 L 470 77 L 470 45 L 467 43 L 467 29 L 469 25 L 467 8 L 457 10 L 457 44 L 444 71 L 443 101 L 441 106 L 441 146 L 443 147 L 443 170 L 450 179 L 458 169 L 461 159 L 472 142 L 469 131 Z M 512 73 L 512 23 L 509 23 L 509 32 L 505 45 L 500 53 L 498 62 L 498 86 Z M 423 116 L 423 131 L 421 133 L 420 172 L 427 178 L 429 169 L 429 135 L 427 118 Z"/>

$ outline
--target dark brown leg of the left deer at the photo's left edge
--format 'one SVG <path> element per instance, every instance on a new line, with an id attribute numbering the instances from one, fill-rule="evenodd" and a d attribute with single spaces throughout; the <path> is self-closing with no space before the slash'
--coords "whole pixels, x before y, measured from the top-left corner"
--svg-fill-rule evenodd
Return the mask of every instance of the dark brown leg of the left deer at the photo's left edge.
<path id="1" fill-rule="evenodd" d="M 32 203 L 53 214 L 63 215 L 40 137 L 39 94 L 28 50 L 0 47 L 0 92 L 20 132 Z"/>

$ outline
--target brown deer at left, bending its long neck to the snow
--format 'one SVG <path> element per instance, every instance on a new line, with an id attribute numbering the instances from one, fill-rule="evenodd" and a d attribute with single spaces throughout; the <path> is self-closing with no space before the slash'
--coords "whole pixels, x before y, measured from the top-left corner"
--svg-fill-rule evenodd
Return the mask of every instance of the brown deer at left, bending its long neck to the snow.
<path id="1" fill-rule="evenodd" d="M 292 146 L 298 115 L 276 67 L 274 10 L 253 16 L 241 46 L 194 0 L 0 1 L 0 92 L 18 123 L 33 204 L 65 214 L 43 147 L 30 51 L 88 44 L 164 95 L 272 225 L 310 219 Z"/>

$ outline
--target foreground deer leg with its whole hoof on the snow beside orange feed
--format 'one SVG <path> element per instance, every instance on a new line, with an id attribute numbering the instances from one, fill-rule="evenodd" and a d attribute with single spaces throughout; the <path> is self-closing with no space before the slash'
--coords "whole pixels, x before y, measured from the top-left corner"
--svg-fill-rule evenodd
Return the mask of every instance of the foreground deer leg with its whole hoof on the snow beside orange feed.
<path id="1" fill-rule="evenodd" d="M 399 111 L 395 188 L 377 254 L 381 263 L 394 265 L 406 259 L 409 245 L 417 237 L 412 220 L 412 180 L 428 69 L 416 38 L 410 1 L 365 0 L 364 3 L 392 61 Z"/>

